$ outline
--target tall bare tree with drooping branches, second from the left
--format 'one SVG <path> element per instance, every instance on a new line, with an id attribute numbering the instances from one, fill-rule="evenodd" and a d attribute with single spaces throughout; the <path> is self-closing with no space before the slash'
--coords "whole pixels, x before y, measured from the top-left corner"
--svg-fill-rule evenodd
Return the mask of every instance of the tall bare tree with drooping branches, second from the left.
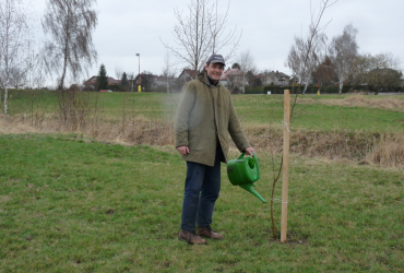
<path id="1" fill-rule="evenodd" d="M 93 31 L 97 25 L 96 0 L 48 0 L 43 19 L 44 32 L 50 36 L 45 44 L 47 67 L 59 76 L 62 88 L 68 70 L 76 80 L 97 59 Z M 61 71 L 60 71 L 61 70 Z"/>

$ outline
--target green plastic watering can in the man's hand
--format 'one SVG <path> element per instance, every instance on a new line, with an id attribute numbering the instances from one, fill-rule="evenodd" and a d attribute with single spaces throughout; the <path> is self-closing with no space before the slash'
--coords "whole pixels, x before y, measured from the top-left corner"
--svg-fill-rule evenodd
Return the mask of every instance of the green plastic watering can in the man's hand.
<path id="1" fill-rule="evenodd" d="M 242 189 L 251 192 L 258 197 L 262 202 L 266 201 L 253 189 L 258 179 L 260 179 L 260 166 L 256 154 L 252 153 L 252 157 L 245 157 L 246 153 L 242 153 L 237 159 L 229 161 L 227 164 L 227 176 L 234 186 L 240 186 Z"/>

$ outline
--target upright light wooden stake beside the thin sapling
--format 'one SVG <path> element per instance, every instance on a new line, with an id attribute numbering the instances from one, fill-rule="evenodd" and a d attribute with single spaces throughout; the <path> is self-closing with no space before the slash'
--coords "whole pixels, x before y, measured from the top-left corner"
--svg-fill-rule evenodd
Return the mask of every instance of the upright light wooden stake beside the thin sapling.
<path id="1" fill-rule="evenodd" d="M 284 158 L 282 180 L 282 219 L 281 242 L 286 241 L 287 230 L 287 192 L 289 183 L 289 140 L 290 140 L 290 91 L 284 91 Z"/>

